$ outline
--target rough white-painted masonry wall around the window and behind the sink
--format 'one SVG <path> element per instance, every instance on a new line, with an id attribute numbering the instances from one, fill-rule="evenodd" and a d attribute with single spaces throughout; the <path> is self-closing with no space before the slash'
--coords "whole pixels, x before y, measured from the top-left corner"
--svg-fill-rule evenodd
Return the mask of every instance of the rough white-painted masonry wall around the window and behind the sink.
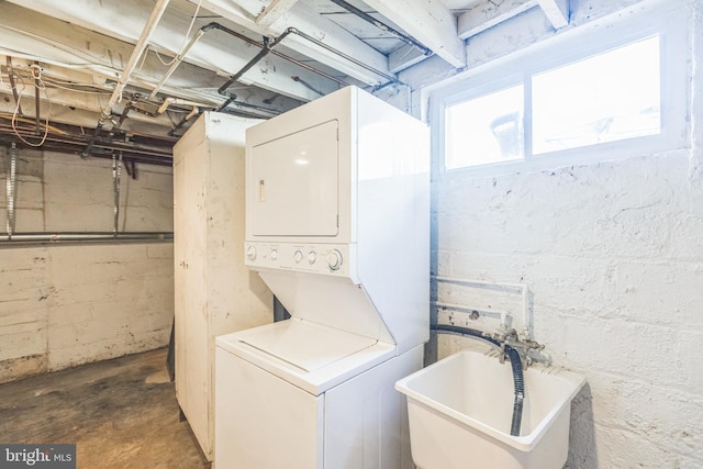
<path id="1" fill-rule="evenodd" d="M 633 3 L 571 2 L 579 24 Z M 588 379 L 569 468 L 703 467 L 703 1 L 683 3 L 689 148 L 434 179 L 433 273 L 526 283 L 545 357 Z M 517 20 L 524 34 L 505 25 L 471 41 L 473 65 L 553 35 L 535 14 Z M 468 343 L 442 337 L 439 355 Z"/>

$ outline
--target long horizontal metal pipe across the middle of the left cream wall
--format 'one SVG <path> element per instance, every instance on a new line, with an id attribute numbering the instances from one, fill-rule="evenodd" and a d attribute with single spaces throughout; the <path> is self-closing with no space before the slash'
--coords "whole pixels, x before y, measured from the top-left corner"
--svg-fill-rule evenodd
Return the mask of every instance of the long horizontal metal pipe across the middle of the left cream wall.
<path id="1" fill-rule="evenodd" d="M 171 242 L 172 232 L 72 232 L 72 233 L 19 233 L 10 236 L 0 234 L 0 245 L 9 244 L 57 244 L 57 243 L 100 243 L 100 242 Z"/>

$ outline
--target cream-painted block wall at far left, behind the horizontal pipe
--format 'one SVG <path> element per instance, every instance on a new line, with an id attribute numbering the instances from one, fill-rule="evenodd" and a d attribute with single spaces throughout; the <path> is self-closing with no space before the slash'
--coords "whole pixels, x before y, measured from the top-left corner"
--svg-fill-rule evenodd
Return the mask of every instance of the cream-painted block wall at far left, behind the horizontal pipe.
<path id="1" fill-rule="evenodd" d="M 4 232 L 8 157 L 0 149 Z M 121 175 L 120 230 L 172 231 L 171 168 Z M 20 152 L 16 227 L 112 232 L 112 163 Z M 168 343 L 172 243 L 0 245 L 0 382 Z"/>

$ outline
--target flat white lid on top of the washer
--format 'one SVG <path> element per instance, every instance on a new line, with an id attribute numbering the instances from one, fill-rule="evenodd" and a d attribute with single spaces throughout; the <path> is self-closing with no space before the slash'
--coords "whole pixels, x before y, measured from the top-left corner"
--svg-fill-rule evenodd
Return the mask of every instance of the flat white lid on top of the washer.
<path id="1" fill-rule="evenodd" d="M 238 340 L 303 371 L 311 372 L 372 347 L 377 340 L 293 320 L 239 334 Z"/>

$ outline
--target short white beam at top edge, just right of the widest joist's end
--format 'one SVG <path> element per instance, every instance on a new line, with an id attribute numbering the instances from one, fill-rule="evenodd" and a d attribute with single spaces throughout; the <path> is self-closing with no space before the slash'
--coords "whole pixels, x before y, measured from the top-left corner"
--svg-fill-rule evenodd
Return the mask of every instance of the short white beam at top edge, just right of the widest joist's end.
<path id="1" fill-rule="evenodd" d="M 482 1 L 459 16 L 458 35 L 466 40 L 537 7 L 537 0 Z"/>

